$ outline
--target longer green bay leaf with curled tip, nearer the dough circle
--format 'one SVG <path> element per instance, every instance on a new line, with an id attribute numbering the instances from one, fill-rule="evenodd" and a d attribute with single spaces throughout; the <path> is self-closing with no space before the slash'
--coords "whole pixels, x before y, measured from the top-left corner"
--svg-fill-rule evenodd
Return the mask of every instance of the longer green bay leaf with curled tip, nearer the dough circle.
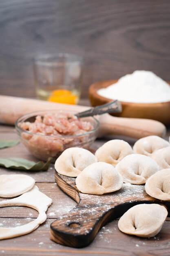
<path id="1" fill-rule="evenodd" d="M 52 159 L 53 157 L 49 157 L 46 163 L 43 161 L 35 163 L 24 158 L 0 157 L 0 166 L 24 171 L 47 171 Z"/>

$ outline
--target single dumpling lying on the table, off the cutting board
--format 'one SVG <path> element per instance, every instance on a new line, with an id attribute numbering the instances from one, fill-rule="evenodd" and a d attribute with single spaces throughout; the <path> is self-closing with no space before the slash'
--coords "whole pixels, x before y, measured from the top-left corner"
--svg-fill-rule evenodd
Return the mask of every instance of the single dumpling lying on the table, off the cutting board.
<path id="1" fill-rule="evenodd" d="M 168 211 L 159 204 L 138 204 L 120 218 L 119 229 L 129 235 L 156 236 L 162 228 Z"/>

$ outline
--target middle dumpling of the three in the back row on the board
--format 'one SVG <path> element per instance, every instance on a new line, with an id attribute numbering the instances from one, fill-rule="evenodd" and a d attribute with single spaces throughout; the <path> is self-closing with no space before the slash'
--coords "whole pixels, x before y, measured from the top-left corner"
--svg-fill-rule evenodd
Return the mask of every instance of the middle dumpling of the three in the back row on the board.
<path id="1" fill-rule="evenodd" d="M 99 162 L 106 162 L 116 166 L 126 155 L 133 153 L 128 142 L 121 139 L 113 139 L 97 149 L 95 156 Z"/>

